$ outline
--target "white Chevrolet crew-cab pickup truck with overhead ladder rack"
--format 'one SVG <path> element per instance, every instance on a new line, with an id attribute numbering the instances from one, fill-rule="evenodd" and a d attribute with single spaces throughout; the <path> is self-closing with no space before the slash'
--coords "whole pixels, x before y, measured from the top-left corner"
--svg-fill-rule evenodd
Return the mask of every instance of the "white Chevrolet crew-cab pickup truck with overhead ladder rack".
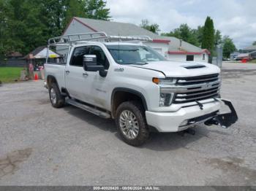
<path id="1" fill-rule="evenodd" d="M 227 128 L 238 120 L 230 101 L 220 98 L 217 66 L 167 61 L 138 42 L 145 40 L 151 39 L 105 33 L 49 39 L 48 48 L 57 52 L 67 47 L 67 54 L 45 63 L 52 106 L 67 103 L 112 118 L 133 146 L 143 144 L 151 130 L 177 132 L 202 122 Z M 220 114 L 224 104 L 230 112 Z"/>

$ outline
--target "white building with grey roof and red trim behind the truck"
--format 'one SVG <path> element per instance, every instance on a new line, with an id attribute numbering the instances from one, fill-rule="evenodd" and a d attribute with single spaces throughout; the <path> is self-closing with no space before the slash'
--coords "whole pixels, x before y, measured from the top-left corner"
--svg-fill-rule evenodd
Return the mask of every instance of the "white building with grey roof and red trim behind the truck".
<path id="1" fill-rule="evenodd" d="M 131 23 L 72 17 L 63 35 L 91 32 L 105 32 L 109 36 L 149 36 L 153 41 L 144 43 L 170 60 L 208 62 L 208 55 L 210 55 L 208 50 L 203 50 L 176 37 L 159 36 Z"/>

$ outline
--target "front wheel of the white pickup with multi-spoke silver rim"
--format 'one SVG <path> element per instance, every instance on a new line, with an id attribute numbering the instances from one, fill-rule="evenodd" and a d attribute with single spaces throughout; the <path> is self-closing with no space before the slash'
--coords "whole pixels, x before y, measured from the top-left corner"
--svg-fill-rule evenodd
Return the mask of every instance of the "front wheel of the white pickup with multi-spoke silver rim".
<path id="1" fill-rule="evenodd" d="M 140 146 L 149 136 L 145 110 L 136 101 L 126 101 L 116 110 L 116 126 L 121 138 L 127 144 Z"/>

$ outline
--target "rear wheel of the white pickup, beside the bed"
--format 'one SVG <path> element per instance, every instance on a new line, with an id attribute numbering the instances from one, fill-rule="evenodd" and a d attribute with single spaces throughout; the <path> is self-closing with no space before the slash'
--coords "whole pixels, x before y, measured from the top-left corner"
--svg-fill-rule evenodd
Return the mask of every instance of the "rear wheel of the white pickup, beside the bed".
<path id="1" fill-rule="evenodd" d="M 55 108 L 60 108 L 64 106 L 65 98 L 63 95 L 61 95 L 58 85 L 56 83 L 53 83 L 49 85 L 48 90 L 51 105 Z"/>

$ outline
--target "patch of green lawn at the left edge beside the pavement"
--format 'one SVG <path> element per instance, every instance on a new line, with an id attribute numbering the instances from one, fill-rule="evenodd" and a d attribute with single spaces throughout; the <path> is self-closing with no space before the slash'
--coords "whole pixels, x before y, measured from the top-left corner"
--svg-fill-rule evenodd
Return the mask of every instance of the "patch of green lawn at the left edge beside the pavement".
<path id="1" fill-rule="evenodd" d="M 0 67 L 0 81 L 3 83 L 15 82 L 20 79 L 21 67 Z"/>

